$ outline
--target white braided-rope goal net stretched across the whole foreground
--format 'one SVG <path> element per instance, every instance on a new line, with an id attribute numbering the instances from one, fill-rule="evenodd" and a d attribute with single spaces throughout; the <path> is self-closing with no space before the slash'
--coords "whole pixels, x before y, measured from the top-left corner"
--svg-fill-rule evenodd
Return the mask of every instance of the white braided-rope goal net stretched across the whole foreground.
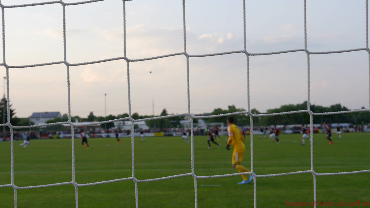
<path id="1" fill-rule="evenodd" d="M 114 183 L 117 181 L 125 181 L 125 180 L 132 180 L 135 183 L 135 197 L 136 197 L 136 207 L 139 207 L 139 200 L 138 200 L 138 183 L 145 183 L 148 181 L 158 181 L 158 180 L 165 180 L 169 178 L 176 178 L 176 177 L 184 177 L 184 176 L 192 176 L 194 178 L 194 197 L 195 197 L 195 207 L 198 207 L 198 197 L 197 197 L 197 180 L 200 178 L 216 178 L 216 177 L 229 177 L 234 175 L 243 175 L 243 174 L 252 174 L 253 175 L 253 189 L 254 189 L 254 207 L 257 207 L 257 181 L 259 177 L 273 177 L 279 175 L 292 175 L 292 174 L 302 174 L 302 173 L 311 173 L 313 175 L 313 200 L 316 201 L 316 176 L 317 175 L 340 175 L 340 174 L 355 174 L 355 173 L 364 173 L 370 172 L 370 170 L 360 170 L 360 171 L 351 171 L 351 172 L 340 172 L 340 173 L 316 173 L 314 170 L 314 163 L 313 163 L 313 143 L 310 144 L 310 170 L 305 171 L 296 171 L 296 172 L 289 172 L 289 173 L 279 173 L 279 174 L 268 174 L 268 175 L 258 175 L 253 172 L 253 117 L 262 117 L 262 116 L 277 116 L 277 115 L 285 115 L 285 114 L 293 114 L 293 113 L 308 113 L 310 116 L 310 129 L 311 129 L 311 141 L 313 141 L 313 116 L 315 115 L 332 115 L 332 114 L 340 114 L 340 113 L 352 113 L 352 112 L 361 112 L 361 111 L 369 111 L 370 109 L 358 109 L 358 110 L 349 110 L 345 112 L 326 112 L 326 113 L 314 113 L 310 110 L 310 55 L 312 54 L 334 54 L 334 53 L 344 53 L 344 52 L 351 52 L 351 51 L 367 51 L 369 53 L 369 79 L 370 79 L 370 49 L 369 49 L 369 35 L 368 35 L 368 0 L 366 0 L 366 8 L 364 8 L 364 12 L 366 13 L 366 44 L 363 48 L 354 48 L 350 50 L 340 50 L 340 51 L 323 51 L 323 52 L 313 52 L 307 50 L 307 27 L 306 27 L 306 0 L 304 1 L 304 8 L 302 8 L 302 12 L 304 13 L 304 34 L 305 34 L 305 47 L 299 49 L 292 49 L 287 51 L 277 51 L 277 52 L 268 52 L 268 53 L 249 53 L 246 47 L 246 14 L 245 14 L 245 0 L 243 0 L 243 29 L 244 29 L 244 45 L 243 50 L 240 51 L 227 51 L 227 52 L 220 52 L 215 54 L 188 54 L 186 50 L 186 21 L 185 21 L 185 0 L 182 0 L 182 17 L 183 17 L 183 34 L 184 34 L 184 51 L 175 53 L 175 54 L 167 54 L 161 55 L 158 57 L 149 57 L 149 58 L 142 58 L 142 59 L 130 59 L 126 54 L 126 11 L 125 11 L 125 1 L 122 0 L 123 6 L 123 30 L 124 30 L 124 57 L 113 57 L 104 60 L 97 60 L 91 62 L 83 62 L 83 63 L 70 63 L 67 60 L 67 50 L 66 50 L 66 24 L 65 24 L 65 7 L 71 7 L 78 4 L 88 4 L 97 1 L 104 1 L 104 0 L 90 0 L 90 1 L 81 1 L 77 3 L 64 3 L 63 0 L 60 1 L 49 1 L 43 3 L 32 3 L 32 4 L 22 4 L 22 5 L 11 5 L 5 6 L 1 4 L 1 15 L 2 15 L 2 41 L 3 41 L 3 62 L 0 64 L 6 68 L 6 98 L 10 100 L 10 93 L 9 93 L 9 69 L 12 68 L 27 68 L 27 67 L 38 67 L 38 66 L 46 66 L 46 65 L 55 65 L 55 64 L 64 64 L 67 68 L 67 88 L 68 88 L 68 122 L 59 122 L 59 123 L 51 123 L 45 125 L 33 125 L 33 126 L 13 126 L 10 123 L 10 103 L 7 102 L 7 123 L 1 124 L 0 126 L 8 126 L 11 132 L 11 143 L 10 143 L 10 154 L 11 154 L 11 181 L 10 184 L 1 184 L 0 187 L 12 187 L 14 189 L 14 207 L 17 207 L 17 190 L 19 189 L 31 189 L 31 188 L 41 188 L 41 187 L 51 187 L 51 186 L 58 186 L 58 185 L 66 185 L 72 184 L 75 187 L 75 205 L 76 208 L 78 207 L 78 188 L 83 186 L 91 186 L 97 184 L 105 184 L 105 183 Z M 6 24 L 6 15 L 4 10 L 9 8 L 16 8 L 16 7 L 31 7 L 31 6 L 39 6 L 39 5 L 46 5 L 46 4 L 60 4 L 63 7 L 63 44 L 64 44 L 64 59 L 58 62 L 51 62 L 51 63 L 41 63 L 41 64 L 34 64 L 34 65 L 8 65 L 6 62 L 6 31 L 5 31 L 5 24 Z M 283 112 L 283 113 L 272 113 L 272 114 L 259 114 L 254 115 L 250 112 L 250 98 L 249 98 L 249 57 L 250 56 L 262 56 L 262 55 L 271 55 L 271 54 L 283 54 L 283 53 L 294 53 L 294 52 L 305 52 L 307 54 L 307 109 L 306 110 L 298 110 L 292 112 Z M 236 112 L 236 113 L 228 113 L 222 115 L 211 115 L 211 116 L 194 116 L 191 114 L 191 106 L 190 106 L 190 84 L 189 84 L 189 58 L 193 57 L 209 57 L 209 56 L 218 56 L 218 55 L 225 55 L 225 54 L 245 54 L 246 55 L 246 79 L 248 84 L 248 110 L 244 112 Z M 138 62 L 138 61 L 146 61 L 152 59 L 159 59 L 165 57 L 172 57 L 172 56 L 184 56 L 186 57 L 186 66 L 187 66 L 187 99 L 188 99 L 188 112 L 183 114 L 176 114 L 176 115 L 168 115 L 168 116 L 159 116 L 159 117 L 151 117 L 147 119 L 132 119 L 131 117 L 131 98 L 130 98 L 130 63 L 131 62 Z M 70 101 L 70 72 L 69 68 L 71 66 L 80 66 L 80 65 L 88 65 L 88 64 L 96 64 L 101 62 L 108 62 L 114 60 L 125 60 L 127 62 L 127 81 L 128 81 L 128 108 L 129 108 L 129 117 L 115 119 L 115 120 L 108 120 L 105 122 L 96 122 L 91 123 L 91 125 L 98 125 L 102 123 L 109 123 L 115 121 L 122 121 L 122 120 L 129 120 L 131 121 L 131 131 L 134 132 L 134 122 L 137 121 L 146 121 L 146 120 L 154 120 L 154 119 L 164 119 L 168 117 L 176 117 L 176 116 L 188 116 L 190 117 L 190 128 L 191 128 L 191 173 L 180 174 L 180 175 L 171 175 L 168 177 L 161 177 L 161 178 L 152 178 L 148 180 L 138 180 L 135 178 L 135 158 L 134 158 L 134 135 L 131 136 L 131 165 L 132 165 L 132 176 L 128 178 L 120 178 L 116 180 L 109 180 L 109 181 L 100 181 L 97 183 L 89 183 L 89 184 L 78 184 L 75 181 L 75 147 L 74 147 L 74 129 L 84 124 L 75 124 L 71 121 L 71 101 Z M 369 82 L 370 83 L 370 82 Z M 369 92 L 370 92 L 370 85 L 369 85 Z M 369 93 L 369 105 L 370 105 L 370 93 Z M 211 117 L 221 117 L 221 116 L 231 116 L 231 115 L 239 115 L 239 114 L 248 114 L 250 117 L 250 165 L 251 165 L 251 172 L 248 173 L 233 173 L 233 174 L 224 174 L 224 175 L 208 175 L 208 176 L 198 176 L 194 172 L 194 135 L 193 135 L 193 119 L 202 119 L 202 118 L 211 118 Z M 42 126 L 51 126 L 51 125 L 62 125 L 62 124 L 69 124 L 71 126 L 72 132 L 72 140 L 71 140 L 71 153 L 72 153 L 72 180 L 64 183 L 55 183 L 55 184 L 45 184 L 45 185 L 36 185 L 36 186 L 27 186 L 21 187 L 16 185 L 16 181 L 14 181 L 14 141 L 13 141 L 13 130 L 14 129 L 25 129 L 30 127 L 42 127 Z M 316 207 L 316 205 L 315 205 Z"/>

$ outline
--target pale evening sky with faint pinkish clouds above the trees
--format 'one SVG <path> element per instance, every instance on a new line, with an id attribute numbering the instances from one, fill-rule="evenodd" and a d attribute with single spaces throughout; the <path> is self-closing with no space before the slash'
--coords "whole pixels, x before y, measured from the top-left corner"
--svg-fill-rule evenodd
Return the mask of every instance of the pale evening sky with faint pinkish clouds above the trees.
<path id="1" fill-rule="evenodd" d="M 80 0 L 78 0 L 80 1 Z M 36 0 L 2 0 L 4 5 Z M 64 0 L 66 3 L 77 2 Z M 63 61 L 60 4 L 5 8 L 7 65 Z M 304 48 L 303 0 L 246 0 L 246 48 L 250 53 Z M 243 50 L 243 1 L 185 0 L 188 54 Z M 124 56 L 122 0 L 66 6 L 67 61 L 71 64 Z M 366 47 L 365 0 L 307 0 L 307 49 Z M 129 59 L 184 52 L 181 0 L 126 2 Z M 2 50 L 1 50 L 2 51 Z M 1 55 L 2 52 L 0 52 Z M 366 51 L 310 55 L 311 103 L 369 108 Z M 250 109 L 260 112 L 307 100 L 305 52 L 250 56 Z M 70 67 L 71 115 L 128 113 L 124 60 Z M 1 68 L 0 76 L 5 76 Z M 186 57 L 130 62 L 132 113 L 187 113 Z M 150 73 L 151 72 L 151 73 Z M 228 105 L 248 109 L 245 54 L 189 58 L 191 113 Z M 33 112 L 68 113 L 64 64 L 9 69 L 10 103 L 17 117 Z M 105 97 L 104 94 L 107 94 Z"/>

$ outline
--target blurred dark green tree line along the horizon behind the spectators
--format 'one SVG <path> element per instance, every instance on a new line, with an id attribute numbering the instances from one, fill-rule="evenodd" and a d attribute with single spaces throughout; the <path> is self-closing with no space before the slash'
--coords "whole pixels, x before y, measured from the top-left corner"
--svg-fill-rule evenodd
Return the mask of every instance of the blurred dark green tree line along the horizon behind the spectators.
<path id="1" fill-rule="evenodd" d="M 4 105 L 7 105 L 7 100 L 5 98 L 1 99 L 0 102 L 0 123 L 3 123 L 3 113 L 5 113 L 5 123 L 7 123 L 7 110 L 3 112 Z M 15 116 L 16 112 L 15 109 L 11 108 L 10 105 L 10 122 L 13 126 L 28 126 L 34 125 L 34 123 L 30 122 L 29 118 L 18 118 Z M 6 109 L 6 108 L 5 108 Z M 289 104 L 289 105 L 282 105 L 280 108 L 268 109 L 266 112 L 259 112 L 257 109 L 250 110 L 253 114 L 264 114 L 264 113 L 281 113 L 281 112 L 290 112 L 296 110 L 306 110 L 307 109 L 307 101 L 299 104 Z M 350 110 L 341 104 L 331 105 L 329 107 L 324 107 L 320 105 L 310 105 L 310 109 L 314 113 L 323 113 L 323 112 L 337 112 L 337 111 L 347 111 Z M 362 107 L 361 109 L 365 109 Z M 235 112 L 243 112 L 246 111 L 243 108 L 236 108 L 234 105 L 228 106 L 228 109 L 221 109 L 216 108 L 212 111 L 210 115 L 221 115 L 226 113 L 235 113 Z M 206 113 L 204 113 L 206 114 Z M 163 109 L 159 116 L 167 116 L 169 115 L 166 109 Z M 209 115 L 209 113 L 208 113 Z M 78 120 L 80 122 L 102 122 L 105 120 L 114 120 L 120 119 L 124 117 L 128 117 L 128 113 L 122 113 L 117 116 L 115 115 L 108 115 L 107 118 L 103 116 L 95 116 L 93 112 L 90 112 L 87 117 L 80 117 L 80 116 L 72 116 L 71 121 L 74 122 Z M 145 119 L 155 116 L 148 116 L 148 115 L 139 115 L 137 112 L 131 115 L 133 119 Z M 248 114 L 239 114 L 234 115 L 235 124 L 238 126 L 246 126 L 250 124 L 250 118 Z M 178 116 L 178 117 L 170 117 L 166 119 L 155 119 L 155 120 L 147 120 L 145 121 L 146 125 L 150 128 L 158 128 L 158 129 L 167 129 L 173 127 L 181 127 L 181 120 L 185 120 L 186 116 Z M 226 125 L 226 117 L 214 117 L 203 119 L 205 122 L 210 123 L 224 123 Z M 66 122 L 68 121 L 68 115 L 64 114 L 62 117 L 56 117 L 52 120 L 48 120 L 46 123 L 56 123 L 56 122 Z M 334 115 L 317 115 L 313 116 L 313 123 L 352 123 L 354 125 L 361 124 L 361 123 L 370 123 L 370 112 L 356 112 L 356 113 L 342 113 L 342 114 L 334 114 Z M 198 123 L 198 120 L 194 119 L 194 123 Z M 310 123 L 310 115 L 308 113 L 293 113 L 293 114 L 286 114 L 286 115 L 279 115 L 279 116 L 264 116 L 264 117 L 253 117 L 253 125 L 255 126 L 268 126 L 268 125 L 294 125 L 294 124 L 309 124 Z M 114 123 L 107 123 L 107 129 L 114 127 Z M 105 124 L 101 125 L 102 128 L 105 128 Z M 8 127 L 6 127 L 9 130 Z M 52 127 L 51 127 L 52 128 Z"/>

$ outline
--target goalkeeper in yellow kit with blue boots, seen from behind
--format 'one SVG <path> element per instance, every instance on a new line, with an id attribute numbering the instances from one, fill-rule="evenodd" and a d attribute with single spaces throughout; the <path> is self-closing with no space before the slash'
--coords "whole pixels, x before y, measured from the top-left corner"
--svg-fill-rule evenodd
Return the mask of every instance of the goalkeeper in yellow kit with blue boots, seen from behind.
<path id="1" fill-rule="evenodd" d="M 229 116 L 227 119 L 227 123 L 229 125 L 228 127 L 228 144 L 226 145 L 226 149 L 230 150 L 230 144 L 234 147 L 234 151 L 232 153 L 232 167 L 239 171 L 239 173 L 243 172 L 250 172 L 247 168 L 240 165 L 240 163 L 243 161 L 244 152 L 245 152 L 245 146 L 244 141 L 245 138 L 243 137 L 243 134 L 240 132 L 240 129 L 238 126 L 234 124 L 234 118 L 232 116 Z M 249 184 L 250 181 L 253 180 L 253 176 L 249 175 L 249 178 L 247 175 L 242 175 L 243 181 L 238 184 Z"/>

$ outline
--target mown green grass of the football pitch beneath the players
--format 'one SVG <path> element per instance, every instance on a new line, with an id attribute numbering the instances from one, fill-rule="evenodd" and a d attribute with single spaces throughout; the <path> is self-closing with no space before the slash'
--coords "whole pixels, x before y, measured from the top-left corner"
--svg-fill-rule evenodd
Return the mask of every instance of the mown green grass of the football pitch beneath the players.
<path id="1" fill-rule="evenodd" d="M 274 174 L 310 170 L 310 146 L 301 146 L 301 134 L 280 135 L 281 143 L 254 139 L 254 170 Z M 314 170 L 331 173 L 370 169 L 370 133 L 344 133 L 329 145 L 324 134 L 314 134 Z M 90 150 L 75 140 L 78 184 L 131 177 L 131 139 L 88 139 Z M 199 176 L 230 174 L 232 151 L 208 150 L 206 137 L 194 139 L 194 168 Z M 71 140 L 31 140 L 27 148 L 14 142 L 14 183 L 44 185 L 72 180 Z M 250 140 L 246 139 L 243 165 L 250 167 Z M 135 177 L 150 179 L 191 173 L 191 149 L 180 137 L 135 138 Z M 370 173 L 317 176 L 319 201 L 369 201 Z M 198 207 L 253 207 L 253 184 L 238 185 L 237 176 L 198 179 Z M 0 142 L 0 184 L 10 184 L 10 142 Z M 310 173 L 257 178 L 258 207 L 286 207 L 286 201 L 313 201 Z M 18 207 L 75 207 L 73 185 L 17 190 Z M 194 179 L 190 176 L 138 183 L 139 207 L 195 207 Z M 78 188 L 79 207 L 135 207 L 132 180 Z M 14 190 L 0 188 L 0 207 L 14 207 Z"/>

